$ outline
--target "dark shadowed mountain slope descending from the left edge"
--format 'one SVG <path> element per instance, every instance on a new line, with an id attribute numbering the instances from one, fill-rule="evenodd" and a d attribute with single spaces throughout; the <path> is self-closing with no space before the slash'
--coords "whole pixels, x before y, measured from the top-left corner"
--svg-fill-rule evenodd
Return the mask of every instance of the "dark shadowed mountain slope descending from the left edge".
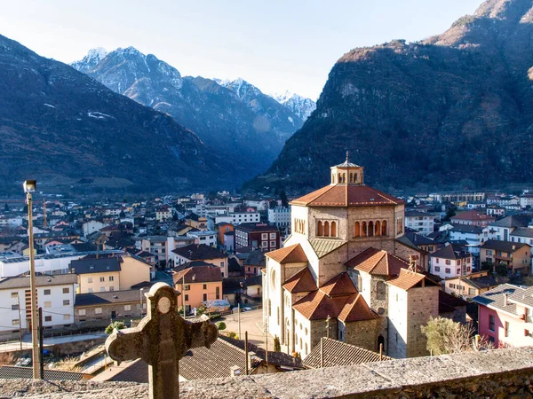
<path id="1" fill-rule="evenodd" d="M 179 192 L 230 182 L 170 116 L 0 35 L 0 184 L 19 192 Z M 225 180 L 226 179 L 226 180 Z"/>

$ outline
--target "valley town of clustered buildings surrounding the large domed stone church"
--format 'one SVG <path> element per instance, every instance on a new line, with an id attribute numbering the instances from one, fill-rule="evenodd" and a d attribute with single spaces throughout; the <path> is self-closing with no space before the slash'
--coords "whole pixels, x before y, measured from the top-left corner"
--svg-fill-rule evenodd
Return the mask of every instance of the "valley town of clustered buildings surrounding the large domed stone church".
<path id="1" fill-rule="evenodd" d="M 2 200 L 0 376 L 31 362 L 28 214 L 44 375 L 147 382 L 147 364 L 110 367 L 102 343 L 139 325 L 156 283 L 179 315 L 219 328 L 179 361 L 183 380 L 533 344 L 533 192 L 397 198 L 347 155 L 328 173 L 291 199 Z M 431 340 L 443 320 L 466 332 L 462 348 Z"/>

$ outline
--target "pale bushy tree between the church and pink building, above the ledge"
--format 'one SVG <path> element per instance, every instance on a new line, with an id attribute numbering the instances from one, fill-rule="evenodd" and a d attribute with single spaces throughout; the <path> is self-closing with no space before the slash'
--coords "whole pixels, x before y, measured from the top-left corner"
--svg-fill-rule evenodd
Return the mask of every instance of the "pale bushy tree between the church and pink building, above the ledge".
<path id="1" fill-rule="evenodd" d="M 450 318 L 432 317 L 420 328 L 426 334 L 426 348 L 434 356 L 492 348 L 491 343 L 479 335 L 474 339 L 472 325 L 456 323 Z"/>

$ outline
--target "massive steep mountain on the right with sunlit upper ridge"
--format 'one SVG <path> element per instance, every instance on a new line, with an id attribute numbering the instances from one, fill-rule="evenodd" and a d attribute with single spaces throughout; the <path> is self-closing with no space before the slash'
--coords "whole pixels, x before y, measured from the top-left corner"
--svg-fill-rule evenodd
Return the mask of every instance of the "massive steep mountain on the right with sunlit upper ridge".
<path id="1" fill-rule="evenodd" d="M 304 192 L 344 160 L 387 190 L 533 183 L 533 0 L 489 0 L 448 31 L 347 52 L 316 111 L 245 184 Z"/>

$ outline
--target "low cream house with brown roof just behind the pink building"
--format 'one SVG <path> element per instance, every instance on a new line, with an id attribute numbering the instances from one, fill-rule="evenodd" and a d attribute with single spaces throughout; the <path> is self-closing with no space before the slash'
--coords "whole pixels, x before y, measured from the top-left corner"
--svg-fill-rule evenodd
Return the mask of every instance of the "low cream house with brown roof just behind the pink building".
<path id="1" fill-rule="evenodd" d="M 492 288 L 503 284 L 506 278 L 489 273 L 489 271 L 478 271 L 467 277 L 446 278 L 444 281 L 444 291 L 453 293 L 465 299 L 472 299 L 481 293 L 485 293 Z"/>

